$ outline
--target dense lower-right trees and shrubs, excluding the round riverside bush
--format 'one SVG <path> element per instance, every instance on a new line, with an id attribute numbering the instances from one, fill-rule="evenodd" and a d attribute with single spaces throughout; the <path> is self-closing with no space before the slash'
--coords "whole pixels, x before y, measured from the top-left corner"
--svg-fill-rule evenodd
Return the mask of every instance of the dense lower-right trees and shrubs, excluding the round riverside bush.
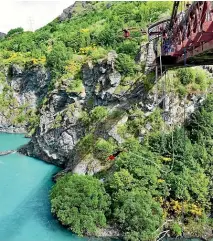
<path id="1" fill-rule="evenodd" d="M 134 135 L 120 146 L 123 152 L 113 168 L 98 174 L 99 178 L 105 178 L 105 190 L 111 197 L 106 222 L 115 223 L 125 240 L 155 240 L 167 219 L 172 220 L 169 229 L 173 236 L 180 236 L 182 228 L 193 235 L 205 233 L 204 227 L 211 223 L 208 215 L 213 175 L 212 108 L 213 96 L 209 95 L 192 114 L 185 130 L 177 127 L 167 133 L 160 132 L 162 119 L 158 119 L 158 110 L 148 117 L 138 107 L 130 111 L 134 117 L 132 129 L 128 129 L 130 123 L 127 122 L 125 131 L 132 130 Z M 149 138 L 141 145 L 134 137 L 134 130 L 147 121 L 156 126 L 154 124 Z M 81 145 L 87 154 L 100 159 L 113 153 L 115 147 L 110 140 L 91 134 L 82 139 Z M 63 185 L 67 185 L 66 177 Z M 82 178 L 87 180 L 87 177 Z M 60 190 L 58 183 L 56 187 Z"/>

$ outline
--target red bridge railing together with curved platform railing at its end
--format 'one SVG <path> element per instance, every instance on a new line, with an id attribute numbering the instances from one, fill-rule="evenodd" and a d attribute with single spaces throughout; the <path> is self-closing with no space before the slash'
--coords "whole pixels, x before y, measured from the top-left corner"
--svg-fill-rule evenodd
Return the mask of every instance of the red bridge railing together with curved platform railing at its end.
<path id="1" fill-rule="evenodd" d="M 213 3 L 195 1 L 174 19 L 159 21 L 148 28 L 149 41 L 161 42 L 162 56 L 180 57 L 213 40 Z M 172 23 L 172 28 L 171 28 Z M 159 51 L 158 51 L 159 54 Z"/>

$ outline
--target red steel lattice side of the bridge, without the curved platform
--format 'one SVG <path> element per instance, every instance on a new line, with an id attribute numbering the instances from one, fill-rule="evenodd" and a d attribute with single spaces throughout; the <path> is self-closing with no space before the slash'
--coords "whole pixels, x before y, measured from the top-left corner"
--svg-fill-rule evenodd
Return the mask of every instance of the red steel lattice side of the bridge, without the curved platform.
<path id="1" fill-rule="evenodd" d="M 189 9 L 180 12 L 174 19 L 173 28 L 163 48 L 163 55 L 181 56 L 213 39 L 213 4 L 211 1 L 196 1 Z"/>

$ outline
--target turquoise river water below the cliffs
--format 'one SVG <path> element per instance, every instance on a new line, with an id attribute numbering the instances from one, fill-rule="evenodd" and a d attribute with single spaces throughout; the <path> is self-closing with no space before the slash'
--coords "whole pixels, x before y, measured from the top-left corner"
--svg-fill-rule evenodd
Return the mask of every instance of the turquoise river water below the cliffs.
<path id="1" fill-rule="evenodd" d="M 0 151 L 17 149 L 28 141 L 23 135 L 0 133 Z M 0 156 L 0 241 L 100 240 L 79 238 L 52 217 L 48 195 L 58 170 L 18 153 Z"/>

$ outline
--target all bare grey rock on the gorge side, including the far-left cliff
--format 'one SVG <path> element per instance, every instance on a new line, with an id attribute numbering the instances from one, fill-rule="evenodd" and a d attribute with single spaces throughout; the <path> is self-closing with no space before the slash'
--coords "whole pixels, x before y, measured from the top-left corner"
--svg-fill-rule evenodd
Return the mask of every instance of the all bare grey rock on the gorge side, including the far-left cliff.
<path id="1" fill-rule="evenodd" d="M 144 62 L 141 49 L 140 62 Z M 21 149 L 21 152 L 34 156 L 47 162 L 62 166 L 65 172 L 72 170 L 75 173 L 88 173 L 93 175 L 104 168 L 97 158 L 86 156 L 82 159 L 77 151 L 79 140 L 88 132 L 82 123 L 82 111 L 89 111 L 95 106 L 106 106 L 110 112 L 124 111 L 124 115 L 115 122 L 106 126 L 99 126 L 95 133 L 99 138 L 112 138 L 118 144 L 124 139 L 119 133 L 119 126 L 124 125 L 134 116 L 128 114 L 133 105 L 137 105 L 149 116 L 160 107 L 162 116 L 168 126 L 181 124 L 184 116 L 192 113 L 204 100 L 204 95 L 190 95 L 180 99 L 177 93 L 159 92 L 153 81 L 152 91 L 147 91 L 143 76 L 136 82 L 122 83 L 121 74 L 115 69 L 115 51 L 108 53 L 106 59 L 97 63 L 87 62 L 81 69 L 83 88 L 81 92 L 67 91 L 66 83 L 72 79 L 64 80 L 64 85 L 48 92 L 51 81 L 49 72 L 42 67 L 24 68 L 12 65 L 5 70 L 7 85 L 11 88 L 12 98 L 17 107 L 25 104 L 29 109 L 35 109 L 43 99 L 45 103 L 37 108 L 39 125 L 32 136 L 30 143 Z M 150 80 L 151 81 L 151 80 Z M 126 88 L 128 87 L 128 88 Z M 0 84 L 0 94 L 4 89 Z M 10 107 L 9 107 L 10 108 Z M 0 112 L 0 131 L 26 132 L 23 124 L 13 125 L 11 120 Z M 146 125 L 139 131 L 139 141 L 152 130 L 152 124 Z"/>

